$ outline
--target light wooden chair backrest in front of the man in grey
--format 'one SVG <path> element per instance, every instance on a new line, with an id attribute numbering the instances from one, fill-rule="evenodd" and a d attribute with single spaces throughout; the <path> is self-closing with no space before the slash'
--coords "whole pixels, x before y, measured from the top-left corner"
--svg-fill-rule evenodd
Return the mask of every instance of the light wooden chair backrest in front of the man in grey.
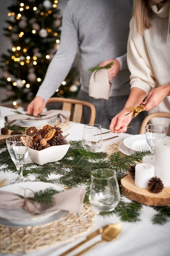
<path id="1" fill-rule="evenodd" d="M 83 106 L 89 107 L 91 109 L 91 116 L 90 116 L 89 123 L 94 124 L 94 122 L 95 122 L 96 108 L 90 102 L 85 102 L 85 101 L 78 100 L 78 99 L 65 99 L 65 98 L 54 97 L 54 98 L 48 99 L 47 103 L 52 103 L 52 102 L 62 102 L 63 103 L 62 110 L 69 110 L 69 111 L 71 111 L 72 104 L 73 104 L 74 105 L 74 113 L 73 113 L 73 118 L 71 121 L 78 122 L 78 123 L 80 123 L 81 119 L 82 119 Z"/>

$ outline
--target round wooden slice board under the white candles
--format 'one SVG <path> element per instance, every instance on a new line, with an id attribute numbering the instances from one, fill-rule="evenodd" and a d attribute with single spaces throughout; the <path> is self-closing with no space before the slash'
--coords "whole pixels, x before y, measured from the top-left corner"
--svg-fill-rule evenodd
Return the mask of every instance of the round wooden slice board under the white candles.
<path id="1" fill-rule="evenodd" d="M 136 187 L 135 181 L 130 177 L 129 173 L 122 178 L 121 187 L 123 195 L 130 200 L 153 206 L 170 205 L 170 187 L 164 188 L 158 194 L 151 193 L 147 189 Z"/>

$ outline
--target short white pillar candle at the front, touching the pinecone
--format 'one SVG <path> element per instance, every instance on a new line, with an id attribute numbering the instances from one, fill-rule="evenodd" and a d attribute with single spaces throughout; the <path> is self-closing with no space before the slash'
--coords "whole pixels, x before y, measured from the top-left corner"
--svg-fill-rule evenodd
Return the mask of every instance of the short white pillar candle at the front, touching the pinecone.
<path id="1" fill-rule="evenodd" d="M 135 167 L 135 186 L 147 189 L 147 183 L 155 177 L 155 166 L 149 163 L 139 163 Z"/>

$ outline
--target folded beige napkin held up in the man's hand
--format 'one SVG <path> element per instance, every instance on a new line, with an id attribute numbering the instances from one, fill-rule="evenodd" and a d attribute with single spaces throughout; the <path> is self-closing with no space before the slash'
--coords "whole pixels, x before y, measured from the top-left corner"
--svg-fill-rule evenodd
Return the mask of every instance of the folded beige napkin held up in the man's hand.
<path id="1" fill-rule="evenodd" d="M 89 96 L 97 99 L 109 99 L 112 95 L 113 83 L 109 82 L 108 70 L 96 70 L 92 73 L 89 83 Z"/>

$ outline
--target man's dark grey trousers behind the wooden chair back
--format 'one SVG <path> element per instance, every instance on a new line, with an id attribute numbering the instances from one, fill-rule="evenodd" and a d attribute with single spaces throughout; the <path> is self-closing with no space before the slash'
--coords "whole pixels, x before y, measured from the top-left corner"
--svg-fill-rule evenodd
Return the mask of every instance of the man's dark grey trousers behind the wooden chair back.
<path id="1" fill-rule="evenodd" d="M 96 108 L 96 119 L 95 123 L 102 126 L 102 128 L 109 129 L 111 124 L 111 120 L 116 114 L 118 114 L 125 106 L 125 103 L 128 99 L 128 95 L 125 96 L 114 96 L 110 97 L 108 100 L 105 99 L 94 99 L 80 90 L 77 96 L 77 99 L 91 102 Z M 133 125 L 132 128 L 127 129 L 128 134 L 139 134 L 140 127 L 142 121 L 145 117 L 145 111 L 139 113 L 132 121 L 130 122 L 130 126 Z M 82 123 L 88 124 L 91 115 L 91 110 L 88 107 L 83 107 L 82 114 Z"/>

